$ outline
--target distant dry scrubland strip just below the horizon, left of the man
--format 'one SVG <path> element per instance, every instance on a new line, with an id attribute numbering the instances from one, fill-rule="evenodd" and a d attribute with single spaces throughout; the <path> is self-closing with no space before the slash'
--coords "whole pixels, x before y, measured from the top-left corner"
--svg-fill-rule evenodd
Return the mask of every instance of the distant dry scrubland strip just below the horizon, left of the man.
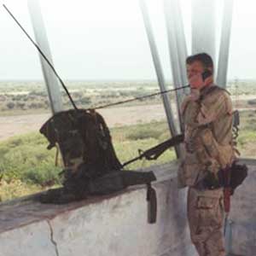
<path id="1" fill-rule="evenodd" d="M 122 101 L 158 91 L 154 82 L 66 82 L 73 101 L 79 108 L 94 108 L 109 102 Z M 61 90 L 64 108 L 72 108 L 66 92 Z M 174 95 L 171 96 L 174 98 Z M 160 102 L 160 97 L 149 101 L 132 102 L 130 106 Z M 129 106 L 126 104 L 126 106 Z M 49 99 L 43 82 L 0 82 L 0 115 L 47 113 Z"/>

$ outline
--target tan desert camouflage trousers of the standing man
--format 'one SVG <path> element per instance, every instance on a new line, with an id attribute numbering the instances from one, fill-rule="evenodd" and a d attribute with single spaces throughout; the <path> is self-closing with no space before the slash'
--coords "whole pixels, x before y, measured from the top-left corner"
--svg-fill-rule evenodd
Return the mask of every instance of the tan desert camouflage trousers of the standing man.
<path id="1" fill-rule="evenodd" d="M 189 188 L 188 219 L 191 241 L 200 256 L 224 256 L 223 189 Z"/>

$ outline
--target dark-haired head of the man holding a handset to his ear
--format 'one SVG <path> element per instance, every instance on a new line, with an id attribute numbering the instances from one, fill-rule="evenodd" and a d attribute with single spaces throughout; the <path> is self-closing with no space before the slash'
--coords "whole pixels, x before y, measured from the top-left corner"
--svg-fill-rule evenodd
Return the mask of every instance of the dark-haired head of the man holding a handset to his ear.
<path id="1" fill-rule="evenodd" d="M 213 82 L 213 61 L 210 55 L 207 55 L 206 53 L 191 55 L 186 59 L 186 65 L 188 79 L 204 73 L 207 77 L 207 79 L 203 79 L 206 83 L 204 85 Z"/>

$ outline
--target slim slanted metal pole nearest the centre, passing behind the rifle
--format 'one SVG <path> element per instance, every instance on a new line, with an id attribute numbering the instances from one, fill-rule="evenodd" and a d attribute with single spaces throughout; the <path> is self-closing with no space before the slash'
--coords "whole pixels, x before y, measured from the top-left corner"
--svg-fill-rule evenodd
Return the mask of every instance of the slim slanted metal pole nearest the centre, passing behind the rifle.
<path id="1" fill-rule="evenodd" d="M 146 6 L 144 0 L 139 0 L 139 3 L 140 3 L 141 11 L 143 14 L 144 26 L 145 26 L 145 29 L 146 29 L 146 32 L 148 35 L 148 43 L 149 43 L 149 47 L 151 49 L 155 72 L 157 75 L 158 83 L 160 85 L 160 91 L 164 91 L 164 90 L 166 90 L 166 83 L 165 83 L 165 79 L 164 79 L 164 74 L 162 72 L 162 67 L 160 64 L 160 57 L 159 57 L 157 47 L 156 47 L 156 44 L 154 41 L 154 35 L 152 32 L 152 26 L 151 26 L 149 15 L 148 15 L 148 9 L 147 9 L 147 6 Z M 170 129 L 172 137 L 174 137 L 177 135 L 177 129 L 174 124 L 174 116 L 172 113 L 172 107 L 171 107 L 169 98 L 166 94 L 162 95 L 162 99 L 163 99 L 164 108 L 166 111 L 166 118 L 167 118 L 167 122 L 169 125 L 169 129 Z M 176 151 L 177 157 L 179 157 L 179 155 L 180 155 L 179 147 L 175 147 L 175 151 Z"/>

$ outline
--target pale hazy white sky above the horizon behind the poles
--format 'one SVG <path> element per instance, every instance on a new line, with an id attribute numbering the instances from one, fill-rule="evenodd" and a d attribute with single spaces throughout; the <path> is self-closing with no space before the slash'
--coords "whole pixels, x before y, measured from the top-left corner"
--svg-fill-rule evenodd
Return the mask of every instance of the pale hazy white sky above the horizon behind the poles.
<path id="1" fill-rule="evenodd" d="M 162 2 L 145 1 L 165 78 L 172 79 Z M 223 0 L 215 1 L 218 39 Z M 234 1 L 228 78 L 256 79 L 256 1 Z M 0 80 L 43 79 L 37 50 L 2 6 L 6 4 L 33 38 L 26 1 L 0 3 Z M 191 3 L 180 3 L 191 54 Z M 156 79 L 137 0 L 41 0 L 40 5 L 55 68 L 62 79 Z"/>

